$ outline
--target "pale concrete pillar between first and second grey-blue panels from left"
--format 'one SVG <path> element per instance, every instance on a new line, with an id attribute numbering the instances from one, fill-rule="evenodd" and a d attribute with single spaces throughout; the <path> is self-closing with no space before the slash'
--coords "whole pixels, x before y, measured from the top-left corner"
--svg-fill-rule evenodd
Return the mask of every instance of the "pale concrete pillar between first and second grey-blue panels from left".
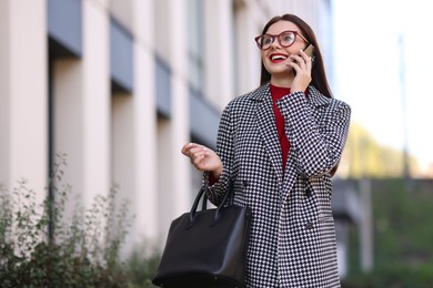
<path id="1" fill-rule="evenodd" d="M 109 14 L 103 7 L 83 3 L 83 116 L 85 119 L 84 199 L 108 193 L 110 161 Z M 99 181 L 95 181 L 99 179 Z"/>

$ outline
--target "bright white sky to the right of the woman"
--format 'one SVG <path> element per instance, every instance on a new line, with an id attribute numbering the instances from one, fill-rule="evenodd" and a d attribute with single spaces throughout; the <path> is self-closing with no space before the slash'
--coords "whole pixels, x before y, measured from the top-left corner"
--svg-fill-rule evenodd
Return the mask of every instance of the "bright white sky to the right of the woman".
<path id="1" fill-rule="evenodd" d="M 382 145 L 433 166 L 433 1 L 333 0 L 335 97 Z"/>

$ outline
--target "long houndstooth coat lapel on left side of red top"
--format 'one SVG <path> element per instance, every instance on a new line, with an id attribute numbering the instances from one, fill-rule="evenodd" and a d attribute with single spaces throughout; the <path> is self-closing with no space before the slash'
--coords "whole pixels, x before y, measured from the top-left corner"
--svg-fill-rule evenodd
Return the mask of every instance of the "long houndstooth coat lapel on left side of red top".
<path id="1" fill-rule="evenodd" d="M 276 133 L 269 84 L 259 89 L 256 93 L 253 99 L 259 100 L 255 110 L 258 127 L 281 187 L 283 181 L 281 147 Z"/>

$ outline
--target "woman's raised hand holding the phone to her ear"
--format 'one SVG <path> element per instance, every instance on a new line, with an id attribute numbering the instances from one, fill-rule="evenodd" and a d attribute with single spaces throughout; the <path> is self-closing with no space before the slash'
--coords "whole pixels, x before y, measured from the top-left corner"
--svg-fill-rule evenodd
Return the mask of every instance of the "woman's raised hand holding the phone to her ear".
<path id="1" fill-rule="evenodd" d="M 295 76 L 292 82 L 291 92 L 296 91 L 304 92 L 311 82 L 311 69 L 313 66 L 313 61 L 311 56 L 305 54 L 303 50 L 300 50 L 300 54 L 290 55 L 292 61 L 286 63 L 288 66 L 291 66 L 295 71 Z"/>

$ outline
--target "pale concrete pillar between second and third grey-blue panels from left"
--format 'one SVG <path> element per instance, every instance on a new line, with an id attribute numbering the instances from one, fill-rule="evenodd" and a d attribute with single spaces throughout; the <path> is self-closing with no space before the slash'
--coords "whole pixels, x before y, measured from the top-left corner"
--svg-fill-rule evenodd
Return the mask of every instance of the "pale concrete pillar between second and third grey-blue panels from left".
<path id="1" fill-rule="evenodd" d="M 135 240 L 158 233 L 157 104 L 153 55 L 153 1 L 133 0 Z"/>

